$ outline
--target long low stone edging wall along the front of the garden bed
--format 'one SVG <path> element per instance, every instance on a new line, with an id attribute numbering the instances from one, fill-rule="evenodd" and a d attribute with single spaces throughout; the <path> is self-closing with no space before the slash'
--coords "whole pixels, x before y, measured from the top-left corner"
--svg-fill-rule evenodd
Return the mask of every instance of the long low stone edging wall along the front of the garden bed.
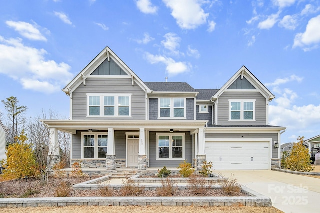
<path id="1" fill-rule="evenodd" d="M 252 196 L 230 197 L 44 197 L 0 198 L 0 207 L 60 207 L 60 206 L 264 206 L 272 201 L 260 193 L 242 186 Z"/>

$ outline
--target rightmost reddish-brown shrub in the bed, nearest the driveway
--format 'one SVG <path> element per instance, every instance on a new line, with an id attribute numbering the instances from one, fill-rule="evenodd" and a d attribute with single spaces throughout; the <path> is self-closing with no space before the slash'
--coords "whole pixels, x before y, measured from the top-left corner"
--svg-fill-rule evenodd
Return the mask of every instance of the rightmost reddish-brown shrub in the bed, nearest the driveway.
<path id="1" fill-rule="evenodd" d="M 230 178 L 225 178 L 221 173 L 220 176 L 224 180 L 219 180 L 219 184 L 225 194 L 229 196 L 239 196 L 241 194 L 241 184 L 234 178 L 234 174 L 231 174 Z"/>

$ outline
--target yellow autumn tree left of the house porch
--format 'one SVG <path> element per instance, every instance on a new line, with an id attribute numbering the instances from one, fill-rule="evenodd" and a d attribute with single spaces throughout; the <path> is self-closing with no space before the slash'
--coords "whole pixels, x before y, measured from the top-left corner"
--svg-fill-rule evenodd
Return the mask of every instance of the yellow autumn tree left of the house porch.
<path id="1" fill-rule="evenodd" d="M 6 152 L 6 160 L 2 161 L 5 168 L 3 178 L 21 179 L 25 176 L 32 177 L 37 173 L 34 152 L 30 144 L 26 141 L 28 138 L 22 130 L 18 137 L 15 137 L 16 143 L 10 144 Z"/>

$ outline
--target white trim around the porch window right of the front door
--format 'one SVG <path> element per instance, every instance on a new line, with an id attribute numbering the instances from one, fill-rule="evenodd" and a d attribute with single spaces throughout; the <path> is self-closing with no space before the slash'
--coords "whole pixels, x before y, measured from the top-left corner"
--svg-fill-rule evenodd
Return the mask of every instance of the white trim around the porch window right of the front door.
<path id="1" fill-rule="evenodd" d="M 159 136 L 169 136 L 169 157 L 168 158 L 159 158 Z M 182 136 L 182 158 L 173 158 L 172 157 L 172 136 Z M 176 133 L 165 133 L 165 132 L 157 132 L 156 133 L 156 160 L 185 160 L 185 133 L 184 132 L 176 132 Z"/>

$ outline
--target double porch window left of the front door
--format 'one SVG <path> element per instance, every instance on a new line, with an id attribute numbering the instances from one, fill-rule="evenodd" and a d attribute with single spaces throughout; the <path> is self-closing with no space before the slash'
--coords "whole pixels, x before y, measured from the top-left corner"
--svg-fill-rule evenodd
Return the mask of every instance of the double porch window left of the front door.
<path id="1" fill-rule="evenodd" d="M 82 132 L 82 158 L 105 158 L 108 148 L 107 132 Z"/>

